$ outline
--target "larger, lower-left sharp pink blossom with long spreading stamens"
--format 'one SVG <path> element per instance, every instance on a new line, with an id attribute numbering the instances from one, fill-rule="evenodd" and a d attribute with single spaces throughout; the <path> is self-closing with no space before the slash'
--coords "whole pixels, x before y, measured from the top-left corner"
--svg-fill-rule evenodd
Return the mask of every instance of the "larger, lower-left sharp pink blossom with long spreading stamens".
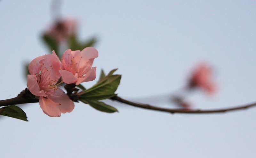
<path id="1" fill-rule="evenodd" d="M 39 97 L 40 107 L 50 117 L 60 117 L 75 106 L 56 84 L 60 79 L 59 68 L 60 61 L 54 52 L 39 56 L 28 65 L 28 90 Z"/>

